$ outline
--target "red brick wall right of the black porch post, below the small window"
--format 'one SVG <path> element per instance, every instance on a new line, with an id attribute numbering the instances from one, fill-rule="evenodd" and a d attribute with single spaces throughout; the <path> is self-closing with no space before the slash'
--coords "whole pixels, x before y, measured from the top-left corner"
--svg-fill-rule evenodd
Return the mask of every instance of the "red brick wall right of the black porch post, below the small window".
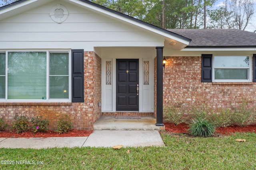
<path id="1" fill-rule="evenodd" d="M 163 72 L 164 106 L 202 106 L 212 108 L 239 104 L 242 98 L 256 104 L 256 83 L 201 82 L 201 57 L 165 57 Z"/>

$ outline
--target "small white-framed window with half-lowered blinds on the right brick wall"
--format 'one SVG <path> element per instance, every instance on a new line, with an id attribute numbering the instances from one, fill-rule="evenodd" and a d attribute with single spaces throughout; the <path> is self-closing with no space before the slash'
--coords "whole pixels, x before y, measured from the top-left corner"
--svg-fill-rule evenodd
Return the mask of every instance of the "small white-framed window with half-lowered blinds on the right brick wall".
<path id="1" fill-rule="evenodd" d="M 214 82 L 251 82 L 252 57 L 214 56 Z"/>

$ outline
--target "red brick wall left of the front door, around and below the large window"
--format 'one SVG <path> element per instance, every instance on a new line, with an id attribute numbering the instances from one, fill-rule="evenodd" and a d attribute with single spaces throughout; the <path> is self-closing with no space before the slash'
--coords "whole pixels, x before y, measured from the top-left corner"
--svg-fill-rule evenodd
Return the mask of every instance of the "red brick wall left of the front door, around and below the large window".
<path id="1" fill-rule="evenodd" d="M 93 130 L 101 115 L 101 59 L 93 51 L 84 52 L 84 103 L 71 102 L 0 102 L 0 116 L 10 125 L 14 115 L 39 116 L 50 121 L 49 129 L 57 128 L 59 118 L 68 115 L 74 129 Z"/>

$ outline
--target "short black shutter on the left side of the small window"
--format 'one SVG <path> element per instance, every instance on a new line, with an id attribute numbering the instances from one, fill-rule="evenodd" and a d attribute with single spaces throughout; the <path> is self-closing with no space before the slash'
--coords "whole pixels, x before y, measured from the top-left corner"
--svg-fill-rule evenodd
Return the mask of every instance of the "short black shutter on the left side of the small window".
<path id="1" fill-rule="evenodd" d="M 202 82 L 212 82 L 212 54 L 202 54 Z"/>

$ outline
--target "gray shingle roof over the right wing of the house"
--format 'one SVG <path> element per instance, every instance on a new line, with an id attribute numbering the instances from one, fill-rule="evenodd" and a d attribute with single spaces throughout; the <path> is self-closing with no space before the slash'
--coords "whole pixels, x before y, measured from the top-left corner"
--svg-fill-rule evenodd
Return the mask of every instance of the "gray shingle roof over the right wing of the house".
<path id="1" fill-rule="evenodd" d="M 186 48 L 256 47 L 256 33 L 239 29 L 167 29 L 192 41 Z"/>

